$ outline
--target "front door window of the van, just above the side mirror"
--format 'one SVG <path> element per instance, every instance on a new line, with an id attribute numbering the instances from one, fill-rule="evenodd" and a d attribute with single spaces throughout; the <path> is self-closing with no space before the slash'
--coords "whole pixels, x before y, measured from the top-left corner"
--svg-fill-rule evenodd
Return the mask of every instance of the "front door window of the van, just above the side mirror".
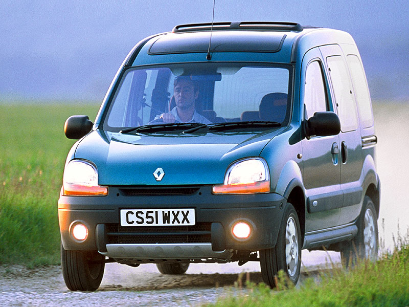
<path id="1" fill-rule="evenodd" d="M 305 74 L 304 103 L 307 119 L 312 117 L 315 112 L 328 111 L 323 72 L 319 61 L 308 64 Z"/>

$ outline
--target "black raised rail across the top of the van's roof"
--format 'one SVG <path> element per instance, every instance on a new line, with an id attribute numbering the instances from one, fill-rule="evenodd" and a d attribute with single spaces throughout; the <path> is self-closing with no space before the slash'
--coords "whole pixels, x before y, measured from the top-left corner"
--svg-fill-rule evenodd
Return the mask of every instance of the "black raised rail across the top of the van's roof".
<path id="1" fill-rule="evenodd" d="M 211 23 L 178 25 L 172 33 L 210 31 Z M 214 23 L 213 30 L 261 30 L 261 31 L 303 31 L 303 26 L 297 23 L 283 23 L 276 21 L 242 21 L 241 23 Z"/>

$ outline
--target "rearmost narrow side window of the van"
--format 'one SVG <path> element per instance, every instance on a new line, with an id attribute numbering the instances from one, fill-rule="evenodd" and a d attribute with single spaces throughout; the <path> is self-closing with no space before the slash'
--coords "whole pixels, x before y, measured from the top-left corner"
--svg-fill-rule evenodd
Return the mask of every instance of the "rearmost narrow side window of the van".
<path id="1" fill-rule="evenodd" d="M 363 128 L 373 126 L 371 98 L 369 96 L 367 78 L 362 64 L 356 55 L 347 56 L 348 67 L 351 71 L 355 98 L 358 103 L 359 120 Z"/>

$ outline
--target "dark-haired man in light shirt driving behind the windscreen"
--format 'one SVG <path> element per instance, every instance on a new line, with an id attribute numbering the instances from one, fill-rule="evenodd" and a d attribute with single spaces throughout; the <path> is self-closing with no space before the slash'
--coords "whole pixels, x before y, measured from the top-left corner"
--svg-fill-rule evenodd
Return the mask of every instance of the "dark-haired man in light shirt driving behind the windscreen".
<path id="1" fill-rule="evenodd" d="M 173 96 L 176 106 L 169 113 L 163 113 L 159 118 L 162 118 L 164 123 L 200 123 L 211 124 L 206 117 L 201 116 L 195 110 L 195 100 L 199 95 L 199 90 L 190 76 L 178 76 L 173 82 Z"/>

